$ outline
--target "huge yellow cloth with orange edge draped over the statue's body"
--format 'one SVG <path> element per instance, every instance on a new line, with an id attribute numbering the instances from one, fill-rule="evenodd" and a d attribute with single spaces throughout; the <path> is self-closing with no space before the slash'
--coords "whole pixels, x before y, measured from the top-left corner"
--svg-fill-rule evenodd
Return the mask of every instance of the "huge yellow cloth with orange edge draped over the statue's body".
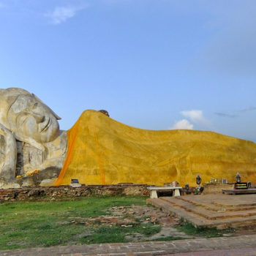
<path id="1" fill-rule="evenodd" d="M 55 185 L 195 185 L 214 178 L 256 183 L 256 144 L 215 132 L 129 127 L 99 111 L 86 110 L 68 133 L 67 159 Z"/>

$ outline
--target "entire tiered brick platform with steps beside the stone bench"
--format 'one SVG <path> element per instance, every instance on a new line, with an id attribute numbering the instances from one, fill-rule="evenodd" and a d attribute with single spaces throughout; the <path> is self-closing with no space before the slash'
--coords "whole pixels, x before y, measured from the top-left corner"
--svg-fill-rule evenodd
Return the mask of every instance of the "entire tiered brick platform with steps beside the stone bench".
<path id="1" fill-rule="evenodd" d="M 256 226 L 256 195 L 186 195 L 148 198 L 147 203 L 183 218 L 195 227 Z"/>

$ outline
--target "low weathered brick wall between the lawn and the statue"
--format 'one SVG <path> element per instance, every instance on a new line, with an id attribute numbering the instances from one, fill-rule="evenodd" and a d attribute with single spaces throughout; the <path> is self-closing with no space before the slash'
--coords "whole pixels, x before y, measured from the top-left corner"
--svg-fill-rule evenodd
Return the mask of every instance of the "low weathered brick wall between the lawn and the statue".
<path id="1" fill-rule="evenodd" d="M 146 184 L 82 185 L 81 187 L 23 187 L 0 189 L 0 202 L 13 200 L 54 200 L 59 197 L 90 197 L 93 195 L 146 195 L 150 194 Z"/>

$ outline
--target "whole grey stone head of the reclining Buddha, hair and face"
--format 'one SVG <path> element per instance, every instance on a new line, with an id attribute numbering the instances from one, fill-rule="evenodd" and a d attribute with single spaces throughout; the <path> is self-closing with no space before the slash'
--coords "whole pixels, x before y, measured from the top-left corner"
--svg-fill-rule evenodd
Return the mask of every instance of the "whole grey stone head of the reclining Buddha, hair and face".
<path id="1" fill-rule="evenodd" d="M 21 141 L 48 143 L 59 136 L 59 116 L 29 91 L 0 89 L 0 123 Z"/>

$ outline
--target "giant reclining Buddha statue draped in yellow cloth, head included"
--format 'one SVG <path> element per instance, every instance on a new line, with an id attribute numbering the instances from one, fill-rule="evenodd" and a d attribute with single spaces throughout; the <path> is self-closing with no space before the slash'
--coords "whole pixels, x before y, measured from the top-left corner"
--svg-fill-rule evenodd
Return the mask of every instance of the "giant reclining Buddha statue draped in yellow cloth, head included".
<path id="1" fill-rule="evenodd" d="M 70 184 L 195 184 L 211 178 L 256 182 L 256 144 L 197 130 L 130 127 L 86 110 L 74 126 L 36 95 L 0 90 L 0 188 Z"/>

